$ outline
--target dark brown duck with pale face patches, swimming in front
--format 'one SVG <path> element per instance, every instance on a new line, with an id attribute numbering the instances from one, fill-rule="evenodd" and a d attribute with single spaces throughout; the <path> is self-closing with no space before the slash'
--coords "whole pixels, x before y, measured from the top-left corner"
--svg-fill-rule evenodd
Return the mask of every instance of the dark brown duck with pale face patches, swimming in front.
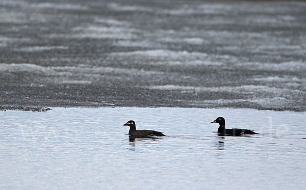
<path id="1" fill-rule="evenodd" d="M 152 136 L 166 136 L 162 132 L 155 130 L 136 130 L 136 123 L 133 120 L 130 120 L 123 125 L 130 126 L 129 135 L 132 135 L 134 137 L 146 138 Z"/>

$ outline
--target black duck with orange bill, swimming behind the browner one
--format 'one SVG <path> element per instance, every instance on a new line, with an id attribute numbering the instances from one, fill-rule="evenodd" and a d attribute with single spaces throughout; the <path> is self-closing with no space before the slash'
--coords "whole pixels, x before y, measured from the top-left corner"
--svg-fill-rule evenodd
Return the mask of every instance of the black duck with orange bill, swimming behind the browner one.
<path id="1" fill-rule="evenodd" d="M 232 136 L 240 136 L 243 134 L 259 134 L 257 132 L 254 132 L 253 130 L 250 129 L 226 129 L 225 128 L 225 119 L 222 117 L 218 117 L 215 121 L 212 121 L 211 123 L 219 123 L 219 128 L 218 128 L 218 134 L 219 135 L 232 135 Z"/>

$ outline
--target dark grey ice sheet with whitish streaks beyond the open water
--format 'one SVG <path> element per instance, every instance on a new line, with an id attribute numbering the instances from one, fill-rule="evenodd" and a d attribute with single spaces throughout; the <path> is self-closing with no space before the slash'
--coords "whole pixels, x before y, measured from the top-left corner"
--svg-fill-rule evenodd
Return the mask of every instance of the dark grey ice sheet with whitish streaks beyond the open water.
<path id="1" fill-rule="evenodd" d="M 0 1 L 0 105 L 306 111 L 305 8 Z"/>

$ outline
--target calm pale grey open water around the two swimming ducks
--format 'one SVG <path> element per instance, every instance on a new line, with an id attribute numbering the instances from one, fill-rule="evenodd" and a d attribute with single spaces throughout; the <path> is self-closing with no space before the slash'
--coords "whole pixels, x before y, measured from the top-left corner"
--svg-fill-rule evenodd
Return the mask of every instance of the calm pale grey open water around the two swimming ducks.
<path id="1" fill-rule="evenodd" d="M 218 116 L 251 137 L 218 137 Z M 1 189 L 306 186 L 306 113 L 202 108 L 0 112 Z M 167 137 L 129 141 L 127 120 Z"/>

